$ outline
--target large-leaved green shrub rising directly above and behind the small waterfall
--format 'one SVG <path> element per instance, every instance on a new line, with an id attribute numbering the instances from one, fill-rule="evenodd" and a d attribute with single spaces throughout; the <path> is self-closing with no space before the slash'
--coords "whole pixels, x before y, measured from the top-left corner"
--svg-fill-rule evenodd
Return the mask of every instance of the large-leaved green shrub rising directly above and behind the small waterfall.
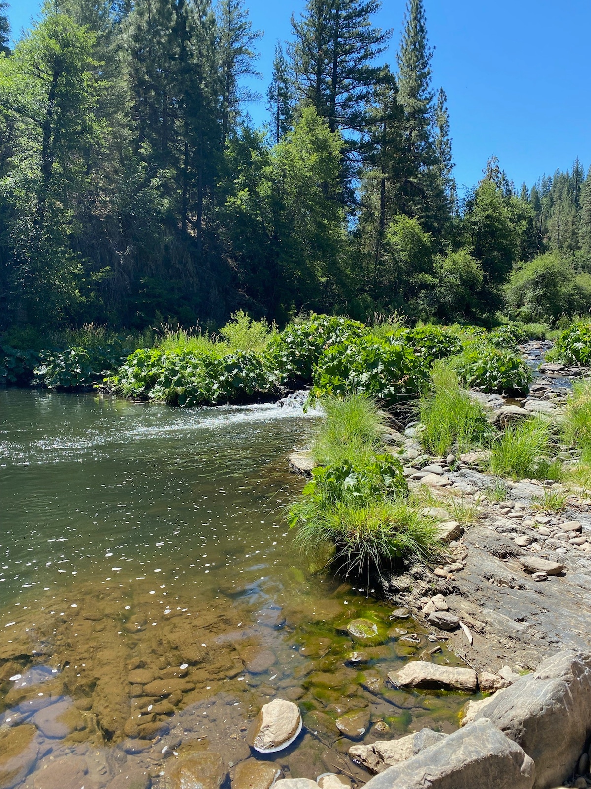
<path id="1" fill-rule="evenodd" d="M 269 376 L 278 383 L 311 383 L 323 350 L 366 332 L 362 323 L 338 316 L 312 314 L 307 320 L 291 323 L 267 346 Z"/>

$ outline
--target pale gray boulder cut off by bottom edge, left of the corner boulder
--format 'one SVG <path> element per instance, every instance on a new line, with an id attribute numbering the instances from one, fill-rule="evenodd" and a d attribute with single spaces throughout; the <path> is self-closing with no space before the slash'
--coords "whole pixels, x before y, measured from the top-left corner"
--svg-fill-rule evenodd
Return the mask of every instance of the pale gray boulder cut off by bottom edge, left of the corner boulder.
<path id="1" fill-rule="evenodd" d="M 365 789 L 532 789 L 535 770 L 519 745 L 478 720 L 381 772 Z"/>

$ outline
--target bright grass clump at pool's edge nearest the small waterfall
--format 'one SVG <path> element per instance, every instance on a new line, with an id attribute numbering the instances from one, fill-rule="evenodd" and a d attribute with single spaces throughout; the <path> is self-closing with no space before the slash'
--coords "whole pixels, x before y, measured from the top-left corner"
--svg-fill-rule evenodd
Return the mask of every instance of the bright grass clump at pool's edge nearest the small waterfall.
<path id="1" fill-rule="evenodd" d="M 374 400 L 349 392 L 342 399 L 324 398 L 321 402 L 325 417 L 312 444 L 317 463 L 367 462 L 384 450 L 386 415 Z"/>

